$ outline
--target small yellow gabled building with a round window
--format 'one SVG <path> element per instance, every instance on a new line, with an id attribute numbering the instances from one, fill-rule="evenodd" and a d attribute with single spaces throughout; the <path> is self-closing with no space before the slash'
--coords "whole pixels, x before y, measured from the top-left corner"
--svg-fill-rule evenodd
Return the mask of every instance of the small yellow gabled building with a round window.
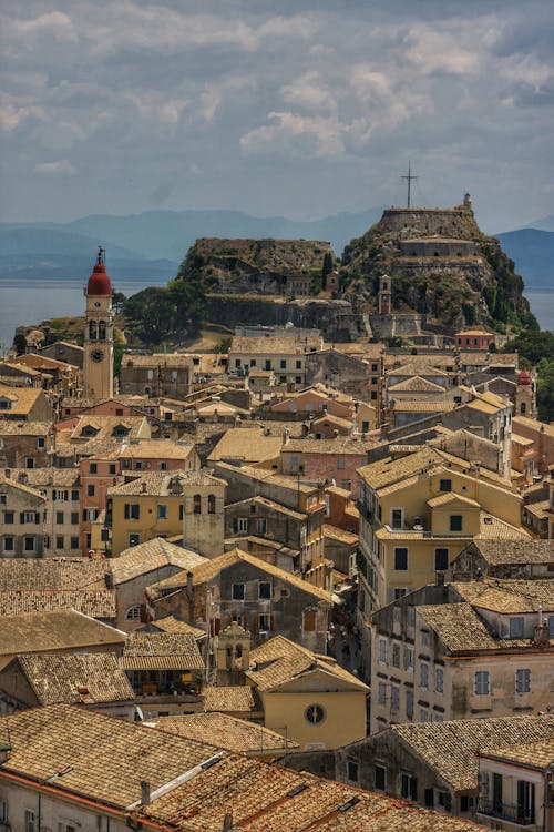
<path id="1" fill-rule="evenodd" d="M 369 688 L 330 656 L 276 636 L 250 652 L 246 676 L 261 700 L 265 727 L 302 751 L 366 737 Z"/>

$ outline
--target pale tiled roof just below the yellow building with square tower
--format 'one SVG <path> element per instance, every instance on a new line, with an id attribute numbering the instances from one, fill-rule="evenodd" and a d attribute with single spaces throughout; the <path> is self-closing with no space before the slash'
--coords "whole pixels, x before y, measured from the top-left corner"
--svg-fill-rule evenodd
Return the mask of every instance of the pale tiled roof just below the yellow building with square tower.
<path id="1" fill-rule="evenodd" d="M 195 551 L 183 549 L 181 546 L 174 546 L 161 537 L 155 537 L 138 546 L 124 549 L 119 557 L 113 558 L 109 564 L 113 582 L 117 586 L 164 566 L 175 566 L 188 570 L 205 560 L 206 558 Z"/>

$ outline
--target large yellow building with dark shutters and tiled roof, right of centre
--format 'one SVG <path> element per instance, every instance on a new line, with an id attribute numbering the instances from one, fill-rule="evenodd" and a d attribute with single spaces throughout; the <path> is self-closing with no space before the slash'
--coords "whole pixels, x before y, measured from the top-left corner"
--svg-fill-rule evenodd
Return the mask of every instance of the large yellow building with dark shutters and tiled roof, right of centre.
<path id="1" fill-rule="evenodd" d="M 529 539 L 521 497 L 500 475 L 438 448 L 359 469 L 362 619 L 447 572 L 473 539 Z"/>

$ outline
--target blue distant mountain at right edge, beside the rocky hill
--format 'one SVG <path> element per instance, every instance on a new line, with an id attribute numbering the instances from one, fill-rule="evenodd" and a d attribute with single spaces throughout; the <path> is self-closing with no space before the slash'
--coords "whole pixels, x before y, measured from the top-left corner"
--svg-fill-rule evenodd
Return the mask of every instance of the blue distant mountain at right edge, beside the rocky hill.
<path id="1" fill-rule="evenodd" d="M 554 231 L 520 229 L 495 236 L 527 288 L 554 288 Z"/>

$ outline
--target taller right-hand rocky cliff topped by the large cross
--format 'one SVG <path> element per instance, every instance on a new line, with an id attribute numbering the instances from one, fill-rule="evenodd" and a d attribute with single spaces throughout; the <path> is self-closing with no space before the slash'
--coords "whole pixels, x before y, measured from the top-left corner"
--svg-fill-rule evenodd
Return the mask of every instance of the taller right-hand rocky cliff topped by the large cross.
<path id="1" fill-rule="evenodd" d="M 532 322 L 523 281 L 475 221 L 469 195 L 453 209 L 390 209 L 345 248 L 345 300 L 377 310 L 379 278 L 392 281 L 392 312 L 414 311 L 459 328 Z"/>

